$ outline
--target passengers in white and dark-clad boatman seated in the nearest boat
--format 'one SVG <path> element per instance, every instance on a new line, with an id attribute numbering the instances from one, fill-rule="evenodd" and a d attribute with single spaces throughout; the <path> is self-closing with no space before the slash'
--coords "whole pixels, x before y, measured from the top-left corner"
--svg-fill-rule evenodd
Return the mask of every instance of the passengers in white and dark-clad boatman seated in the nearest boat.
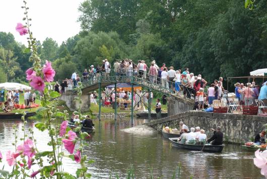
<path id="1" fill-rule="evenodd" d="M 205 134 L 205 130 L 201 129 L 199 126 L 195 128 L 191 127 L 190 131 L 189 128 L 182 121 L 180 121 L 179 126 L 181 135 L 178 140 L 181 141 L 181 143 L 203 144 L 206 143 L 206 141 L 208 141 L 209 143 L 211 142 L 212 145 L 223 144 L 223 133 L 220 126 L 218 126 L 216 130 L 211 128 L 211 131 L 213 131 L 213 136 L 211 138 L 208 138 L 207 135 Z"/>

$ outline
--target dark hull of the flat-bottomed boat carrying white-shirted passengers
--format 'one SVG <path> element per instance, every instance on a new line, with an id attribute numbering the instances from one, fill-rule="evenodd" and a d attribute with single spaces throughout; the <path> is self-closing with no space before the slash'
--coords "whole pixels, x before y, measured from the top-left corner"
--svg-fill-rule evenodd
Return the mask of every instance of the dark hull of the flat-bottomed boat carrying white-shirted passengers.
<path id="1" fill-rule="evenodd" d="M 206 144 L 204 145 L 192 145 L 192 144 L 182 144 L 180 142 L 177 142 L 178 138 L 169 138 L 169 140 L 172 142 L 172 144 L 176 147 L 187 149 L 187 150 L 198 150 L 198 151 L 205 151 L 205 152 L 221 152 L 224 148 L 224 145 L 210 145 Z"/>

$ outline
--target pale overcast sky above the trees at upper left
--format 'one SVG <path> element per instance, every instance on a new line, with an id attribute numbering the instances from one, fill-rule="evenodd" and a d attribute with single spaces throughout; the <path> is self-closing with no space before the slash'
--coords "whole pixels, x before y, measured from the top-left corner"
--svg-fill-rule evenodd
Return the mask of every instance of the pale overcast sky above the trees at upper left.
<path id="1" fill-rule="evenodd" d="M 84 0 L 27 0 L 29 17 L 32 19 L 33 36 L 41 42 L 46 37 L 58 45 L 80 32 L 77 19 L 79 5 Z M 15 40 L 27 45 L 27 36 L 16 32 L 17 23 L 25 24 L 23 0 L 0 0 L 0 32 L 11 32 Z"/>

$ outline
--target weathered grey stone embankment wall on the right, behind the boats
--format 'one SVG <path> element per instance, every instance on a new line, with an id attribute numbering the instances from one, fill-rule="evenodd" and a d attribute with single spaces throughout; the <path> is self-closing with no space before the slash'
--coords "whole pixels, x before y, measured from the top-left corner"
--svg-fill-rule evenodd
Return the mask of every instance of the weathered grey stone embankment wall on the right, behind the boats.
<path id="1" fill-rule="evenodd" d="M 210 128 L 216 129 L 216 126 L 221 126 L 224 141 L 242 144 L 253 140 L 257 133 L 265 129 L 267 117 L 188 111 L 151 121 L 145 125 L 161 132 L 163 126 L 179 129 L 180 121 L 183 121 L 189 128 L 199 126 L 206 130 L 206 134 L 209 133 Z"/>

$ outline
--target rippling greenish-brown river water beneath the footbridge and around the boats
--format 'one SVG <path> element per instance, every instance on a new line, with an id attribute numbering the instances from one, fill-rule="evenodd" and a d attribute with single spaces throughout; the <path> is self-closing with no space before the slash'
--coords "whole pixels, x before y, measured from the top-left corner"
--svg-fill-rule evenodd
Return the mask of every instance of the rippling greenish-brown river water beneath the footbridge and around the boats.
<path id="1" fill-rule="evenodd" d="M 135 120 L 135 125 L 144 120 Z M 37 147 L 40 151 L 49 150 L 47 132 L 40 132 L 34 127 L 36 121 L 28 121 L 26 128 L 34 128 Z M 127 134 L 120 129 L 130 127 L 130 119 L 124 118 L 114 122 L 102 119 L 95 123 L 95 133 L 87 141 L 85 153 L 94 159 L 88 165 L 92 178 L 125 178 L 127 169 L 133 166 L 136 178 L 149 178 L 153 168 L 154 178 L 171 178 L 178 163 L 181 164 L 181 178 L 264 178 L 260 170 L 253 164 L 253 151 L 242 149 L 239 145 L 226 145 L 222 153 L 207 153 L 178 149 L 164 139 L 161 134 L 154 136 L 138 136 Z M 23 136 L 21 121 L 0 122 L 0 151 L 4 157 L 8 150 L 14 150 L 14 130 L 17 124 L 19 138 Z M 19 141 L 20 142 L 20 141 Z M 5 160 L 5 158 L 4 158 Z M 64 158 L 64 170 L 75 173 L 79 167 L 69 158 Z M 3 163 L 0 163 L 0 168 Z M 5 166 L 6 169 L 7 166 Z"/>

